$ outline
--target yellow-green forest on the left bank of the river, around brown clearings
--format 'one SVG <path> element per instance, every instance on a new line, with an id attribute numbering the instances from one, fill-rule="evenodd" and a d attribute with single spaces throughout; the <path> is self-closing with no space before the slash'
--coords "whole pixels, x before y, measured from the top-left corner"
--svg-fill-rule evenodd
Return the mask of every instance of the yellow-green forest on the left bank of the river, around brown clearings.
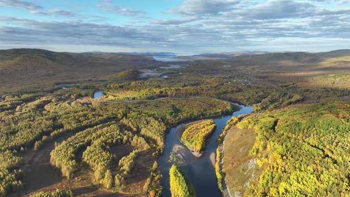
<path id="1" fill-rule="evenodd" d="M 84 105 L 86 99 L 76 99 L 77 92 L 14 95 L 1 101 L 1 196 L 26 191 L 28 183 L 23 180 L 28 173 L 24 165 L 27 160 L 22 157 L 32 151 L 45 151 L 52 143 L 49 161 L 66 181 L 87 171 L 91 184 L 111 192 L 159 196 L 161 174 L 156 159 L 163 150 L 166 130 L 193 118 L 232 112 L 230 103 L 209 98 L 164 98 L 141 103 L 91 100 Z M 132 150 L 121 157 L 114 150 L 116 146 L 130 146 Z M 147 165 L 139 166 L 139 159 L 147 160 Z M 138 178 L 140 182 L 134 182 L 139 173 L 134 171 L 140 167 L 146 174 Z M 37 194 L 42 195 L 71 193 Z"/>

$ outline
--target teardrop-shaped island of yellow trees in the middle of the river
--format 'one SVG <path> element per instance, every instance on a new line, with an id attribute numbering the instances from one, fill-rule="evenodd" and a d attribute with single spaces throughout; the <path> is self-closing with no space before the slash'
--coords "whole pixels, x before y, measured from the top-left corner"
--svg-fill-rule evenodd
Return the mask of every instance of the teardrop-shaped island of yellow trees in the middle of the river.
<path id="1" fill-rule="evenodd" d="M 214 132 L 216 124 L 213 120 L 202 120 L 186 125 L 181 135 L 181 142 L 184 143 L 193 155 L 200 156 L 205 146 L 205 140 Z"/>

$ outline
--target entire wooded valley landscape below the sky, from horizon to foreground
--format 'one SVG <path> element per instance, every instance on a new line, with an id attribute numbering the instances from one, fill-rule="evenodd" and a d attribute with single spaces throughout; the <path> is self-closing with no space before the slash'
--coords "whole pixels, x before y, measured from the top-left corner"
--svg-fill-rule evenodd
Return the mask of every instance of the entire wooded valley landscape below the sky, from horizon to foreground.
<path id="1" fill-rule="evenodd" d="M 167 197 L 173 164 L 201 197 L 349 192 L 348 50 L 0 54 L 2 196 Z"/>

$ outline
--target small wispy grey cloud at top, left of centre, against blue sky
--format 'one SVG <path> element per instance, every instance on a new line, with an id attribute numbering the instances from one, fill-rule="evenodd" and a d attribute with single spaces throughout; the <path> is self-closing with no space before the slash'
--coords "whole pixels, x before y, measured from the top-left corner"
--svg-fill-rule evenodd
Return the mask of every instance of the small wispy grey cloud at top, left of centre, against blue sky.
<path id="1" fill-rule="evenodd" d="M 146 12 L 142 10 L 121 8 L 119 6 L 113 5 L 110 0 L 101 1 L 100 3 L 97 4 L 97 7 L 104 11 L 112 12 L 121 16 L 139 16 L 139 15 L 146 14 Z"/>

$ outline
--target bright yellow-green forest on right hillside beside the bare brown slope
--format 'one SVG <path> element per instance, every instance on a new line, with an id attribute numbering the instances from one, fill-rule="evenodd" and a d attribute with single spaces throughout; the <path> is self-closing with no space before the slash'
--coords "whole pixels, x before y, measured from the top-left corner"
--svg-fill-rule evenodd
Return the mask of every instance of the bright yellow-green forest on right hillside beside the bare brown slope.
<path id="1" fill-rule="evenodd" d="M 252 128 L 250 155 L 262 172 L 244 196 L 348 196 L 350 105 L 297 104 L 253 114 L 237 123 Z"/>

